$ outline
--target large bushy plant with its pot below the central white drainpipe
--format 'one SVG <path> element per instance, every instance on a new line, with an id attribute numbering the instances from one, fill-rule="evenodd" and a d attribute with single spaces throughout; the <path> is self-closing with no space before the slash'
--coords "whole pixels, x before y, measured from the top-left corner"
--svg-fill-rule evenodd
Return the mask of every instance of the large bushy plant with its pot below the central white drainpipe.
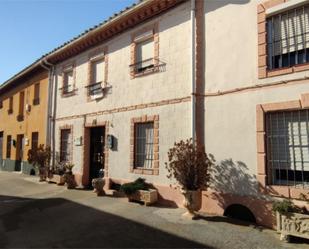
<path id="1" fill-rule="evenodd" d="M 187 209 L 184 216 L 196 217 L 201 204 L 201 191 L 208 187 L 209 168 L 214 165 L 212 156 L 207 156 L 203 146 L 197 146 L 192 139 L 175 143 L 168 151 L 165 164 L 169 179 L 175 179 L 184 196 L 183 205 Z"/>

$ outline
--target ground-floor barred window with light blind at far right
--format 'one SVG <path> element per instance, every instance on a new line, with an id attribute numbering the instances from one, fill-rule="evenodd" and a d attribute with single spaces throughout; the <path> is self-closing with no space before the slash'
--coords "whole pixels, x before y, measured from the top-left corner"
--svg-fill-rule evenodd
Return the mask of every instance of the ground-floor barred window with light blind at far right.
<path id="1" fill-rule="evenodd" d="M 266 137 L 269 183 L 309 187 L 309 110 L 266 114 Z"/>

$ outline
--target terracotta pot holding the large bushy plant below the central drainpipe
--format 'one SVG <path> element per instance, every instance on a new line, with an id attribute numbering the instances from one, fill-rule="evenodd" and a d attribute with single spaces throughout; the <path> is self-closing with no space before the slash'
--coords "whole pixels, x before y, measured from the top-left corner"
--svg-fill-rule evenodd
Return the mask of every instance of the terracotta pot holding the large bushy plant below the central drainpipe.
<path id="1" fill-rule="evenodd" d="M 184 190 L 182 194 L 184 196 L 183 206 L 187 209 L 183 216 L 191 219 L 196 218 L 196 212 L 200 209 L 201 204 L 201 191 Z"/>

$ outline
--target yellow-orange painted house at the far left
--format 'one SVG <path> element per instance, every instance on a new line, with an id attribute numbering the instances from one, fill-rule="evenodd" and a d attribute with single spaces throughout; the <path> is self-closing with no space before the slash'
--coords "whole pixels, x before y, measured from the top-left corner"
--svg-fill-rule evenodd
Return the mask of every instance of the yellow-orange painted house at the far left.
<path id="1" fill-rule="evenodd" d="M 46 144 L 48 71 L 20 73 L 0 86 L 0 170 L 35 174 L 29 149 Z"/>

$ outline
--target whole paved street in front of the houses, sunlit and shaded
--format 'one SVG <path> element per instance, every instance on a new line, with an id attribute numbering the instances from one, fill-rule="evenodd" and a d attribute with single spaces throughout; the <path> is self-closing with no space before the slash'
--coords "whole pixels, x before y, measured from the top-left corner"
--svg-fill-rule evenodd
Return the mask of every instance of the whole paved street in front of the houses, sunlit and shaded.
<path id="1" fill-rule="evenodd" d="M 185 220 L 183 212 L 0 172 L 0 247 L 309 248 L 226 218 Z"/>

